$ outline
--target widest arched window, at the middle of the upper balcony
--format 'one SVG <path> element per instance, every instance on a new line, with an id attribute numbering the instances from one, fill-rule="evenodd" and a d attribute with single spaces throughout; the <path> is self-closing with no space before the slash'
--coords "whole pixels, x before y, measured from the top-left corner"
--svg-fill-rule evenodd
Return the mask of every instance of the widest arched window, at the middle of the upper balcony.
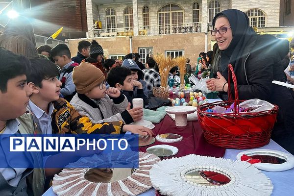
<path id="1" fill-rule="evenodd" d="M 184 23 L 184 10 L 173 3 L 164 5 L 158 11 L 159 34 L 176 33 Z"/>

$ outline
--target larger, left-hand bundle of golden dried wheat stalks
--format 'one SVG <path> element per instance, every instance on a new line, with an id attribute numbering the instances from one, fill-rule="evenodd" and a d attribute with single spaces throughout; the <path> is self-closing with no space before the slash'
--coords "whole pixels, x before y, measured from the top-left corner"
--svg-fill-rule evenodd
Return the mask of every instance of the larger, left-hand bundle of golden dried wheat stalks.
<path id="1" fill-rule="evenodd" d="M 169 72 L 176 65 L 176 61 L 170 55 L 165 57 L 163 54 L 154 55 L 153 58 L 159 68 L 161 86 L 167 87 Z"/>

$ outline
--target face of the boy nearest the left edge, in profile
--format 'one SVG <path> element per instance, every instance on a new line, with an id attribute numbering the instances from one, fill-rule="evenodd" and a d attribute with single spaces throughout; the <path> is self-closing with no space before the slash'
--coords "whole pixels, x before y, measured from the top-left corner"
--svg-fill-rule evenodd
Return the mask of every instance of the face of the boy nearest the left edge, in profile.
<path id="1" fill-rule="evenodd" d="M 28 96 L 32 93 L 26 76 L 19 75 L 7 81 L 7 91 L 0 91 L 0 120 L 7 121 L 22 116 L 26 111 Z"/>

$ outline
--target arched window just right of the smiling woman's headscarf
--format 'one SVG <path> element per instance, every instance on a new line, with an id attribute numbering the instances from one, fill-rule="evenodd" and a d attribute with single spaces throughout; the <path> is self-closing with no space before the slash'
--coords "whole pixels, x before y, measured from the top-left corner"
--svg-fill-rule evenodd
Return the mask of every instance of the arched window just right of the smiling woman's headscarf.
<path id="1" fill-rule="evenodd" d="M 265 27 L 266 26 L 266 15 L 260 9 L 250 9 L 246 12 L 249 18 L 249 24 L 251 27 Z"/>

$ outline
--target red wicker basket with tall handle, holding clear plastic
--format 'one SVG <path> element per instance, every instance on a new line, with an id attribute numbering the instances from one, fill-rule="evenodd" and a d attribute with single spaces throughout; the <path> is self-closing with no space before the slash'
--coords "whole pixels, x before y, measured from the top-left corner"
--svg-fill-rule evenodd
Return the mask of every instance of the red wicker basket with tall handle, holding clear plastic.
<path id="1" fill-rule="evenodd" d="M 225 147 L 246 149 L 262 147 L 270 142 L 270 135 L 276 121 L 278 106 L 261 112 L 239 113 L 239 100 L 237 79 L 231 64 L 228 65 L 228 97 L 229 101 L 217 101 L 203 104 L 198 107 L 198 121 L 203 128 L 206 141 L 210 144 Z M 234 82 L 235 99 L 230 91 L 231 75 Z M 214 106 L 228 108 L 233 102 L 233 113 L 208 113 L 205 112 Z"/>

